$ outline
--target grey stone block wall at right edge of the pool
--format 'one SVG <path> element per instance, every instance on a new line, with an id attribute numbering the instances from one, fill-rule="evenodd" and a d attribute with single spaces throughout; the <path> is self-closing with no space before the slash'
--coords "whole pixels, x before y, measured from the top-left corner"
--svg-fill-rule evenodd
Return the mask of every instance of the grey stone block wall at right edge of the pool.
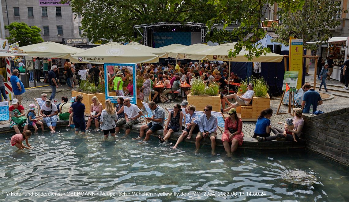
<path id="1" fill-rule="evenodd" d="M 349 108 L 303 119 L 306 148 L 349 166 Z"/>

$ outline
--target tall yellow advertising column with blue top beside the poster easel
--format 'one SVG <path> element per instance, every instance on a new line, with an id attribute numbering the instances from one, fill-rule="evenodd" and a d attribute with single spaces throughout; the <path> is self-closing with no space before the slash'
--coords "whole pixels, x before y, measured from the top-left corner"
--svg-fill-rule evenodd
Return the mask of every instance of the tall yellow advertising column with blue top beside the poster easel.
<path id="1" fill-rule="evenodd" d="M 302 88 L 303 39 L 290 37 L 289 71 L 298 72 L 297 89 Z"/>

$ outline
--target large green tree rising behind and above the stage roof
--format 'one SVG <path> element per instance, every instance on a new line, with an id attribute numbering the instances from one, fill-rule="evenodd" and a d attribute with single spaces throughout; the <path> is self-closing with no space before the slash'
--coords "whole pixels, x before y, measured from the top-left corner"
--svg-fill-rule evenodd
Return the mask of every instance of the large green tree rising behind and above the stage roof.
<path id="1" fill-rule="evenodd" d="M 134 40 L 133 25 L 172 21 L 206 23 L 216 15 L 214 6 L 208 5 L 207 0 L 187 0 L 174 8 L 173 13 L 166 7 L 167 0 L 71 0 L 69 3 L 73 12 L 81 14 L 83 36 L 92 43 Z"/>

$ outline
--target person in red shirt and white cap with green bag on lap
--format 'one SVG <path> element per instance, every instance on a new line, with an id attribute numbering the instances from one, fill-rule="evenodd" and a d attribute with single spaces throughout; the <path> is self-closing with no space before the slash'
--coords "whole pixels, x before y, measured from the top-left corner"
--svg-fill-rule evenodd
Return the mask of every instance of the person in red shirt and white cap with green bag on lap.
<path id="1" fill-rule="evenodd" d="M 19 111 L 19 113 L 17 112 L 17 110 Z M 11 117 L 10 128 L 15 129 L 16 134 L 21 133 L 21 131 L 18 129 L 19 126 L 23 127 L 23 132 L 25 130 L 28 130 L 27 121 L 23 120 L 23 117 L 25 117 L 24 107 L 20 105 L 20 103 L 18 102 L 18 99 L 14 98 L 12 100 L 12 105 L 8 108 L 8 111 L 10 111 L 10 117 Z"/>

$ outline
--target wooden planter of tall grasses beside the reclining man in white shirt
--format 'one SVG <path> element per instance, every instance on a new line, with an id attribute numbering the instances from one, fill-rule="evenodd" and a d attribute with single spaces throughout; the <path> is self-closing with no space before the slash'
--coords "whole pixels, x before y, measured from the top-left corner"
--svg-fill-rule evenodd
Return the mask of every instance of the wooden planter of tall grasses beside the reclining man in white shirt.
<path id="1" fill-rule="evenodd" d="M 250 78 L 247 78 L 245 81 L 241 83 L 241 85 L 238 88 L 238 92 L 240 93 L 237 93 L 237 95 L 242 95 L 242 93 L 245 93 L 247 91 L 248 83 L 254 84 L 254 96 L 252 98 L 252 114 L 244 113 L 244 109 L 241 109 L 241 106 L 237 107 L 236 111 L 238 113 L 241 113 L 241 118 L 257 119 L 262 110 L 265 110 L 270 107 L 270 97 L 268 94 L 269 87 L 263 77 L 256 78 L 251 76 Z"/>

